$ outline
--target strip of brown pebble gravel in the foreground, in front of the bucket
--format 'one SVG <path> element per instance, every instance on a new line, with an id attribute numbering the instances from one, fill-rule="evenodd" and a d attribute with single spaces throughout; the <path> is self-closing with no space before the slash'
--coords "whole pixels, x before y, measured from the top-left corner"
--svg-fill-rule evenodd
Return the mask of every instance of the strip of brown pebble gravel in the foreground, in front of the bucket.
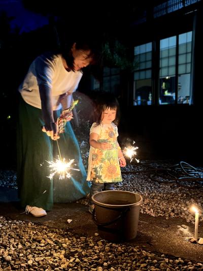
<path id="1" fill-rule="evenodd" d="M 199 270 L 202 263 L 158 255 L 144 247 L 74 236 L 0 217 L 0 270 Z"/>

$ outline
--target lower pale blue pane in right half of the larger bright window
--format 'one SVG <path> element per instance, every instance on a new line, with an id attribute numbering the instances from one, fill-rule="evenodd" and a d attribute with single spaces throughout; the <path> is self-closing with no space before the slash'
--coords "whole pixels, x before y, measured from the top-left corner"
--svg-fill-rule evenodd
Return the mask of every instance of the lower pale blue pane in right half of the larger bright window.
<path id="1" fill-rule="evenodd" d="M 190 101 L 190 74 L 178 77 L 178 104 L 189 104 Z"/>

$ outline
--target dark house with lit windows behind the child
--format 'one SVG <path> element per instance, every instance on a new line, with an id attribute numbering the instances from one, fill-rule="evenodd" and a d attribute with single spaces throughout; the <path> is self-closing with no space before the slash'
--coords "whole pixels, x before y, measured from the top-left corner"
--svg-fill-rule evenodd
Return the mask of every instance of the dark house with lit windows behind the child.
<path id="1" fill-rule="evenodd" d="M 201 0 L 137 4 L 125 37 L 134 71 L 104 69 L 100 88 L 120 98 L 120 129 L 137 141 L 146 159 L 199 161 L 202 153 L 202 4 Z"/>

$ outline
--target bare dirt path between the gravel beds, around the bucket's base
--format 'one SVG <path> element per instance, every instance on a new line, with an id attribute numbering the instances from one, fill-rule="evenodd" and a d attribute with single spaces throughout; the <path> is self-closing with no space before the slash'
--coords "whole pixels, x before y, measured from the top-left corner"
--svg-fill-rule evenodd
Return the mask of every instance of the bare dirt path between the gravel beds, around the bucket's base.
<path id="1" fill-rule="evenodd" d="M 9 193 L 15 199 L 16 192 L 10 190 L 0 193 L 0 215 L 12 220 L 31 221 L 36 224 L 52 228 L 63 228 L 80 236 L 92 236 L 98 233 L 97 226 L 93 223 L 88 207 L 80 203 L 55 203 L 47 216 L 35 218 L 31 215 L 21 214 L 17 201 L 5 200 Z M 7 197 L 8 198 L 8 197 Z M 3 202 L 4 201 L 4 202 Z M 72 222 L 68 223 L 67 220 Z M 186 225 L 186 228 L 181 225 Z M 203 225 L 199 223 L 198 236 L 203 237 Z M 162 217 L 151 217 L 140 214 L 136 238 L 128 244 L 146 246 L 151 252 L 181 257 L 203 263 L 203 245 L 192 244 L 186 237 L 192 237 L 194 225 L 178 218 L 165 220 Z M 100 236 L 98 235 L 98 238 Z"/>

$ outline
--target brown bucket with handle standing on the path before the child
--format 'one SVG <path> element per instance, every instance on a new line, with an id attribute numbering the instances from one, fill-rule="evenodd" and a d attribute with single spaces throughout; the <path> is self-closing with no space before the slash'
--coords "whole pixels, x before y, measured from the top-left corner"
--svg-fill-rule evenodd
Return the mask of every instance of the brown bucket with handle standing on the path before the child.
<path id="1" fill-rule="evenodd" d="M 97 225 L 101 238 L 120 242 L 137 236 L 140 205 L 139 194 L 108 190 L 94 194 L 92 220 Z"/>

